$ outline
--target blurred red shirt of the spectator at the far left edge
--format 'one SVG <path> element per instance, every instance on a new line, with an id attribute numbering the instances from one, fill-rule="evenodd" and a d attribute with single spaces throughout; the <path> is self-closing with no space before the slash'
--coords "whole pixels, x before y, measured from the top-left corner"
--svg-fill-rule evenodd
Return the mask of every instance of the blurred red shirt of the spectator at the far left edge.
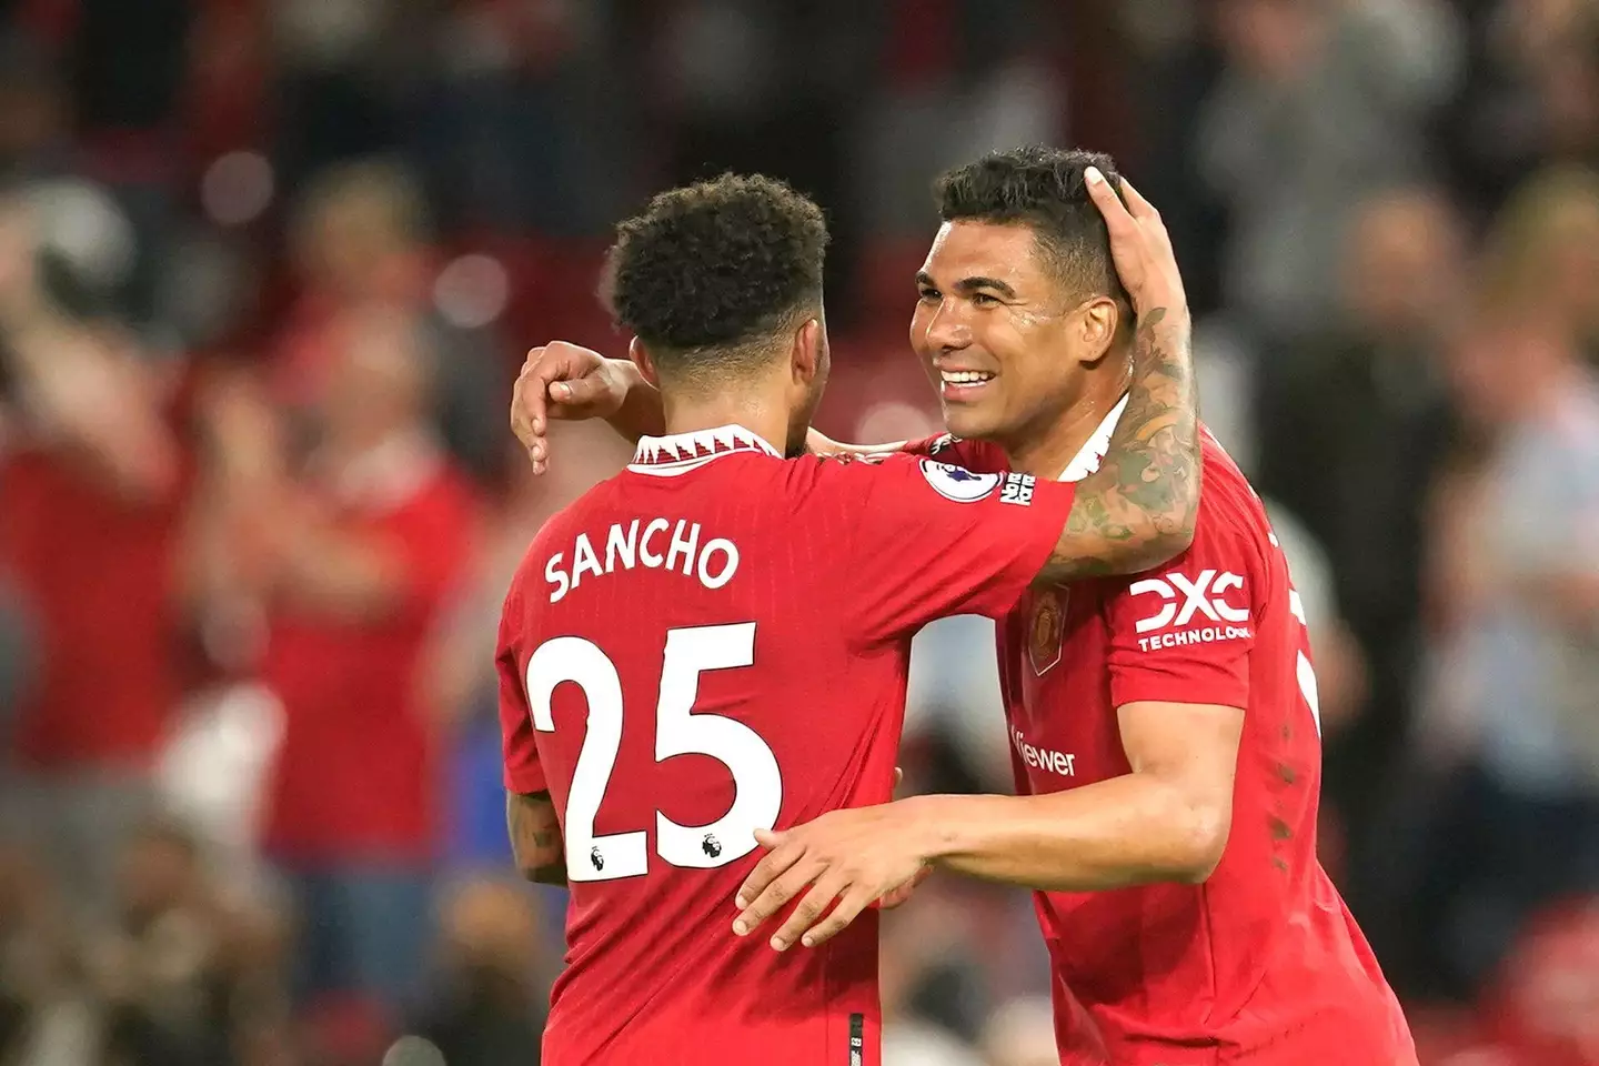
<path id="1" fill-rule="evenodd" d="M 22 766 L 152 762 L 181 689 L 174 550 L 185 495 L 122 500 L 48 452 L 0 463 L 0 571 L 42 650 L 14 734 Z"/>

